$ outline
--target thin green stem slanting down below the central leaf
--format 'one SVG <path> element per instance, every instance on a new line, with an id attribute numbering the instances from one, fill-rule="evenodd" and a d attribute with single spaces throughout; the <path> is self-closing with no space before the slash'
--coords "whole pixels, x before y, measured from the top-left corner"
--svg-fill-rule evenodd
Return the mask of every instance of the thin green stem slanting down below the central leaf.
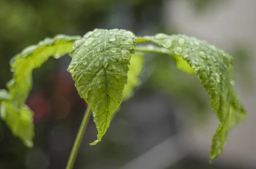
<path id="1" fill-rule="evenodd" d="M 89 119 L 90 119 L 90 115 L 91 115 L 90 110 L 91 110 L 90 105 L 87 105 L 86 111 L 84 113 L 84 118 L 83 118 L 83 120 L 81 122 L 81 125 L 79 127 L 79 131 L 76 135 L 75 143 L 72 147 L 72 151 L 70 153 L 70 157 L 69 157 L 68 162 L 67 162 L 66 169 L 73 169 L 74 163 L 76 161 L 76 156 L 77 156 L 77 153 L 79 151 L 79 147 L 81 145 L 81 141 L 82 141 L 83 136 L 84 136 L 84 131 L 85 131 L 85 129 L 87 127 L 87 124 L 89 122 Z"/>

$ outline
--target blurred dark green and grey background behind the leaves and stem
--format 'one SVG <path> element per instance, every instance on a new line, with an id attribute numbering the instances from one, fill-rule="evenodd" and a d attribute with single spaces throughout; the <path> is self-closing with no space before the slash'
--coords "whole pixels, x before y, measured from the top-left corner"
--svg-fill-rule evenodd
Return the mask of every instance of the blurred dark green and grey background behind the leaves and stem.
<path id="1" fill-rule="evenodd" d="M 249 117 L 234 128 L 223 154 L 209 165 L 218 121 L 196 76 L 166 55 L 148 55 L 142 85 L 123 102 L 102 142 L 93 119 L 75 169 L 255 169 L 255 0 L 0 0 L 0 88 L 9 59 L 56 34 L 124 28 L 136 35 L 186 34 L 235 57 L 235 90 Z M 27 104 L 34 111 L 35 146 L 26 148 L 0 121 L 0 169 L 64 169 L 86 109 L 67 67 L 50 58 L 33 72 Z"/>

